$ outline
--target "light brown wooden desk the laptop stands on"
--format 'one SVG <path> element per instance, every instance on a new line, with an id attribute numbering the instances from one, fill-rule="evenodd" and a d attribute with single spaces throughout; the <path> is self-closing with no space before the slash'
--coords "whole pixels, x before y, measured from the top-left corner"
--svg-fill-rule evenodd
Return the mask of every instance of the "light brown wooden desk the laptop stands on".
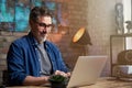
<path id="1" fill-rule="evenodd" d="M 48 88 L 48 87 L 23 86 L 23 87 L 7 87 L 7 88 Z M 103 77 L 103 78 L 99 78 L 95 85 L 84 86 L 78 88 L 132 88 L 132 81 L 122 81 L 111 77 Z"/>

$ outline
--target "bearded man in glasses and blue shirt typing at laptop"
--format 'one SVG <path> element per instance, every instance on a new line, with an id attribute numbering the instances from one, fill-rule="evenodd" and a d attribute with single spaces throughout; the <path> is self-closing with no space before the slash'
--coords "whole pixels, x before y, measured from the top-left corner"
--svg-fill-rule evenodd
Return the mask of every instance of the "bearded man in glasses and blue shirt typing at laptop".
<path id="1" fill-rule="evenodd" d="M 53 25 L 50 10 L 33 8 L 29 23 L 31 32 L 14 41 L 8 52 L 9 85 L 43 85 L 53 74 L 70 76 L 58 48 L 46 41 Z"/>

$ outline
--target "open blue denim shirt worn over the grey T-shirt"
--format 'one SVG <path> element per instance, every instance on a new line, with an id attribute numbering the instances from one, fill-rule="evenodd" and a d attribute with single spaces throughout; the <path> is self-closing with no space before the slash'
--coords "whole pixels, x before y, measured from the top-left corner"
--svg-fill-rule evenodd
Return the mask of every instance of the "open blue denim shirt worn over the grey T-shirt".
<path id="1" fill-rule="evenodd" d="M 53 73 L 55 70 L 67 73 L 68 68 L 63 62 L 59 50 L 48 41 L 44 43 Z M 29 35 L 18 38 L 10 45 L 7 56 L 10 85 L 22 85 L 26 76 L 40 77 L 41 66 L 36 44 L 32 33 L 29 33 Z"/>

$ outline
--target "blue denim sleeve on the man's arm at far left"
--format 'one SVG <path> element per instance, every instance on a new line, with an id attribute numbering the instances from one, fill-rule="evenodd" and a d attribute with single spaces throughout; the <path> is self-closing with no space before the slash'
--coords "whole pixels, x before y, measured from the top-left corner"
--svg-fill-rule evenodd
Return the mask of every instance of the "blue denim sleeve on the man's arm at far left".
<path id="1" fill-rule="evenodd" d="M 19 43 L 12 43 L 10 45 L 7 63 L 9 72 L 9 84 L 22 85 L 26 77 L 24 73 L 24 61 L 22 55 L 22 48 Z"/>

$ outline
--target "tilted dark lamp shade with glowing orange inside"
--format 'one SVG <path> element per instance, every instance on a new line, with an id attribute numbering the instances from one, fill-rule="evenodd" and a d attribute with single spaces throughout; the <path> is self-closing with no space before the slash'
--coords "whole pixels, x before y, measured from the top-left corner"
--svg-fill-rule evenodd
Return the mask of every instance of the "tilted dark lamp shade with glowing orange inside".
<path id="1" fill-rule="evenodd" d="M 90 35 L 85 28 L 80 28 L 73 37 L 73 42 L 80 45 L 92 45 Z"/>

